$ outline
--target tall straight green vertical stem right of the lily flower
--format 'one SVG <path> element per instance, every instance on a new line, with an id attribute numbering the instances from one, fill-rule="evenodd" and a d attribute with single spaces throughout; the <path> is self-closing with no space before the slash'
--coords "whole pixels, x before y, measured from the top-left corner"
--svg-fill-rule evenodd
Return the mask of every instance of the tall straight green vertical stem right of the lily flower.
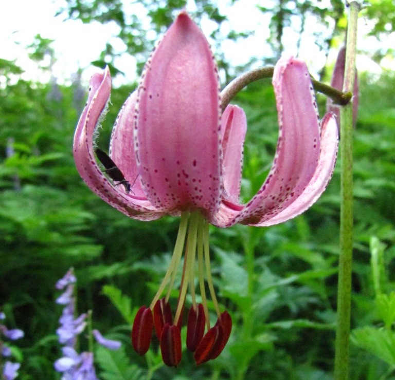
<path id="1" fill-rule="evenodd" d="M 355 78 L 356 29 L 360 4 L 351 2 L 348 17 L 345 80 L 343 90 L 352 91 Z M 335 380 L 347 380 L 351 315 L 353 245 L 352 102 L 340 108 L 340 257 L 337 293 Z"/>

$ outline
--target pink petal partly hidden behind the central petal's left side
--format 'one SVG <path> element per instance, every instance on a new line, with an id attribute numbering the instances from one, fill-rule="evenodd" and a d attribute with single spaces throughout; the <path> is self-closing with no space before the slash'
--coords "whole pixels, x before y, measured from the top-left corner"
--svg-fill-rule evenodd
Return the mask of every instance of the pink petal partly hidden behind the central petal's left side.
<path id="1" fill-rule="evenodd" d="M 110 157 L 123 173 L 125 179 L 133 186 L 136 197 L 147 199 L 138 180 L 138 169 L 133 144 L 133 121 L 136 108 L 137 91 L 131 93 L 119 111 L 111 134 Z"/>

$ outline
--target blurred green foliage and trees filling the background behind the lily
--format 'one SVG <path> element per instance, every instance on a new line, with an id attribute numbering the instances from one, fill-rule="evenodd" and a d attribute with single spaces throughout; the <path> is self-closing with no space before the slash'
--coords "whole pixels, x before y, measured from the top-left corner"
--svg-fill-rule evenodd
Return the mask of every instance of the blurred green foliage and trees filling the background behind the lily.
<path id="1" fill-rule="evenodd" d="M 184 0 L 141 3 L 158 33 L 185 6 Z M 215 1 L 195 0 L 195 4 L 197 22 L 208 17 L 218 24 L 212 37 L 218 44 L 214 48 L 222 78 L 228 81 L 246 67 L 235 68 L 226 62 L 221 42 L 244 36 L 221 34 L 226 14 L 220 13 Z M 121 0 L 68 0 L 65 9 L 70 17 L 86 23 L 116 22 L 119 38 L 141 69 L 153 41 L 146 39 L 136 16 L 130 21 Z M 341 1 L 324 8 L 321 2 L 282 0 L 257 11 L 272 15 L 269 43 L 273 54 L 258 55 L 250 65 L 275 62 L 283 48 L 283 28 L 295 25 L 295 17 L 300 25 L 315 17 L 327 28 L 329 37 L 317 39 L 326 53 L 344 38 Z M 371 34 L 378 42 L 370 58 L 380 63 L 392 54 L 380 41 L 394 30 L 395 5 L 391 0 L 372 1 L 364 16 L 374 25 Z M 37 36 L 32 46 L 31 59 L 38 64 L 48 54 L 56 59 L 49 40 Z M 95 64 L 110 64 L 115 74 L 115 56 L 109 45 Z M 55 80 L 26 81 L 21 73 L 14 62 L 0 59 L 0 308 L 9 327 L 25 331 L 13 348 L 13 355 L 22 363 L 21 379 L 58 376 L 53 362 L 61 354 L 55 334 L 61 307 L 55 304 L 59 295 L 55 283 L 69 267 L 75 268 L 78 277 L 80 312 L 93 310 L 95 327 L 123 344 L 117 352 L 97 349 L 100 378 L 332 377 L 339 251 L 337 170 L 324 196 L 294 220 L 270 228 L 212 227 L 210 248 L 217 293 L 232 315 L 234 328 L 218 359 L 196 367 L 184 352 L 177 369 L 167 368 L 156 347 L 147 358 L 136 355 L 129 334 L 134 313 L 150 301 L 166 271 L 178 220 L 128 219 L 89 191 L 77 173 L 71 150 L 85 102 L 85 84 L 78 75 L 73 84 L 65 86 Z M 322 67 L 321 79 L 329 81 L 330 73 L 331 63 Z M 121 104 L 135 85 L 113 90 L 100 135 L 103 147 Z M 391 71 L 360 73 L 354 134 L 352 379 L 395 378 L 394 88 Z M 326 99 L 318 99 L 323 115 Z M 242 189 L 246 200 L 264 180 L 277 142 L 270 81 L 249 85 L 234 102 L 245 109 L 248 118 Z M 84 345 L 82 339 L 82 348 Z"/>

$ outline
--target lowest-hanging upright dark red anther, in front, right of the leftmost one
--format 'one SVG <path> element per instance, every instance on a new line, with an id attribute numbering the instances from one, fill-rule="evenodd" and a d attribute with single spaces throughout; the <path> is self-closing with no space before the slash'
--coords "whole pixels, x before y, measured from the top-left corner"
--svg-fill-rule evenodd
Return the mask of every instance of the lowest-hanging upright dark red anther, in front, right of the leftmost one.
<path id="1" fill-rule="evenodd" d="M 160 352 L 167 366 L 176 367 L 181 362 L 181 333 L 176 325 L 166 324 L 163 327 Z"/>

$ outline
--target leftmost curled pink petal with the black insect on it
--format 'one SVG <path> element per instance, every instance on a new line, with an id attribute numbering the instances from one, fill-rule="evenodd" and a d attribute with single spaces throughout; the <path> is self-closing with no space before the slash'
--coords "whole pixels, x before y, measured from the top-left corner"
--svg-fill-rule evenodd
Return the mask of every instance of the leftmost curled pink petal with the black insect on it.
<path id="1" fill-rule="evenodd" d="M 111 77 L 109 68 L 96 73 L 89 82 L 89 95 L 74 135 L 74 160 L 86 184 L 101 199 L 120 212 L 135 219 L 152 220 L 158 213 L 147 200 L 126 194 L 123 187 L 114 186 L 101 172 L 93 153 L 93 135 L 110 98 Z M 132 138 L 131 138 L 132 140 Z"/>

